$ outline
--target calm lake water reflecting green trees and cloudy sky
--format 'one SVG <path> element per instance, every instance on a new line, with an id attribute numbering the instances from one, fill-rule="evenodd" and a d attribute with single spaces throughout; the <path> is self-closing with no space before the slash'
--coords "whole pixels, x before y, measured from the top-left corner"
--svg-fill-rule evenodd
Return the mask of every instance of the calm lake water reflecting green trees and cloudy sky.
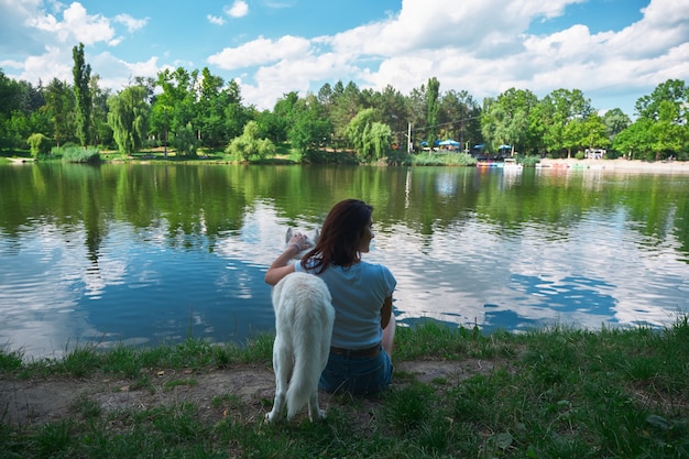
<path id="1" fill-rule="evenodd" d="M 0 166 L 0 346 L 241 343 L 274 330 L 288 227 L 375 207 L 400 326 L 663 327 L 688 309 L 689 175 L 473 167 Z"/>

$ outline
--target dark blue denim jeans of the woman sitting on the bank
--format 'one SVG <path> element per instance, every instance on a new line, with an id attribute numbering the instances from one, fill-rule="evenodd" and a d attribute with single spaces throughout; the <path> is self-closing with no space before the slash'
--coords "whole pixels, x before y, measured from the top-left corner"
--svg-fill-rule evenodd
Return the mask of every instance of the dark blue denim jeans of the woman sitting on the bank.
<path id="1" fill-rule="evenodd" d="M 318 387 L 330 393 L 376 394 L 390 385 L 392 371 L 390 356 L 382 349 L 374 358 L 347 357 L 330 352 L 328 364 L 320 374 Z"/>

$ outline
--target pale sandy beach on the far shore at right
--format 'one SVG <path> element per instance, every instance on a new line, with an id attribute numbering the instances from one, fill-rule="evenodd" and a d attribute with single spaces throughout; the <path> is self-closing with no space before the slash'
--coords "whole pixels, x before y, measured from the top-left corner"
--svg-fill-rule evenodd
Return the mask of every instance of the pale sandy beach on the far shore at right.
<path id="1" fill-rule="evenodd" d="M 540 160 L 542 167 L 550 168 L 588 168 L 617 172 L 635 172 L 650 174 L 689 174 L 689 161 L 647 162 L 628 160 Z"/>

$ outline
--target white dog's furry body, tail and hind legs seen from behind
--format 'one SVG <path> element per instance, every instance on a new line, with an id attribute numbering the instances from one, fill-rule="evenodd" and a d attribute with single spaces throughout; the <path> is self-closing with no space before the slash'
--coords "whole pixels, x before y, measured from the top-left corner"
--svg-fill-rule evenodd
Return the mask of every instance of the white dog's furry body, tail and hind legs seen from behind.
<path id="1" fill-rule="evenodd" d="M 275 285 L 275 401 L 265 415 L 269 422 L 282 416 L 285 402 L 287 419 L 306 403 L 311 422 L 326 417 L 318 406 L 318 380 L 330 352 L 335 320 L 331 299 L 326 283 L 313 274 L 292 273 Z"/>

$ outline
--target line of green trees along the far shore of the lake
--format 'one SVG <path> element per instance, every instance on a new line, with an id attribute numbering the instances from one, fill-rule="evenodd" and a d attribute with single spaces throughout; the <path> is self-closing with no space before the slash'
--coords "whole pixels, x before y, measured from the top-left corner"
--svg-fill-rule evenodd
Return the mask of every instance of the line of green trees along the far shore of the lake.
<path id="1" fill-rule="evenodd" d="M 205 67 L 165 69 L 156 78 L 133 78 L 118 92 L 100 87 L 73 48 L 74 80 L 43 86 L 14 80 L 0 69 L 0 149 L 50 152 L 76 144 L 131 154 L 146 147 L 196 156 L 199 149 L 223 150 L 244 160 L 274 154 L 289 142 L 302 155 L 353 150 L 373 162 L 431 150 L 452 139 L 457 150 L 485 153 L 510 145 L 511 153 L 569 157 L 587 149 L 609 156 L 648 161 L 689 154 L 689 86 L 668 79 L 635 103 L 635 121 L 615 108 L 601 114 L 579 89 L 557 89 L 538 98 L 511 88 L 477 101 L 466 90 L 440 90 L 436 77 L 403 95 L 392 85 L 360 89 L 341 80 L 317 92 L 283 95 L 272 110 L 245 105 L 236 80 Z"/>

